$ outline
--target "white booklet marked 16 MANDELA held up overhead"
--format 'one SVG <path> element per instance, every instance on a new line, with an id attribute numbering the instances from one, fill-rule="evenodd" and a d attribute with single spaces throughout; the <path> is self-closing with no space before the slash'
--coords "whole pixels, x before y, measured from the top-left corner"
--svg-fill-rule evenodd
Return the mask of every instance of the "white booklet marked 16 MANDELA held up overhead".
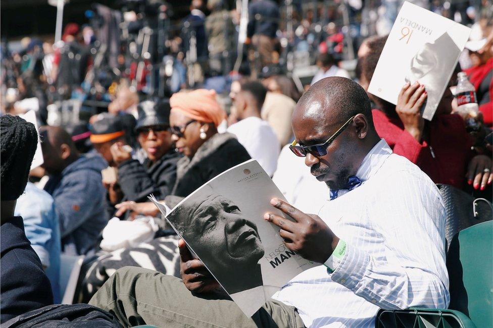
<path id="1" fill-rule="evenodd" d="M 431 120 L 471 29 L 405 2 L 388 35 L 368 92 L 397 104 L 406 82 L 424 84 L 422 116 Z"/>

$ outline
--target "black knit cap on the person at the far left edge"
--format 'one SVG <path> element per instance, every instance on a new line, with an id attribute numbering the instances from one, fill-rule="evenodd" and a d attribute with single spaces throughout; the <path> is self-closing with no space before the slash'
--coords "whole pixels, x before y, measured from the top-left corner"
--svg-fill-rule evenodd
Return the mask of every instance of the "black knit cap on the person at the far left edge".
<path id="1" fill-rule="evenodd" d="M 0 118 L 1 200 L 16 200 L 24 192 L 37 141 L 32 123 L 18 116 Z"/>

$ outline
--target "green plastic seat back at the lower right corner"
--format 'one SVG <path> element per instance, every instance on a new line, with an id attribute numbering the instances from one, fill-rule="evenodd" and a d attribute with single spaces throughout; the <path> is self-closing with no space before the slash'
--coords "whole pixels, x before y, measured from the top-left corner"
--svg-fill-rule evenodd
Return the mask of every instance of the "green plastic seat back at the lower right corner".
<path id="1" fill-rule="evenodd" d="M 460 231 L 447 254 L 450 306 L 478 327 L 493 322 L 493 222 Z"/>

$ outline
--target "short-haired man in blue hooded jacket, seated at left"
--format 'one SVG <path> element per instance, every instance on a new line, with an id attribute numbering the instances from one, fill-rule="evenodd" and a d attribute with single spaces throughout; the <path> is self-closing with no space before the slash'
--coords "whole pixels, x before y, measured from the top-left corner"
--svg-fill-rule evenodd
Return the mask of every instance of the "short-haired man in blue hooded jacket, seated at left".
<path id="1" fill-rule="evenodd" d="M 62 248 L 69 254 L 86 254 L 106 226 L 106 192 L 100 156 L 80 155 L 70 135 L 60 127 L 43 126 L 41 148 L 50 180 L 44 186 L 55 199 Z"/>

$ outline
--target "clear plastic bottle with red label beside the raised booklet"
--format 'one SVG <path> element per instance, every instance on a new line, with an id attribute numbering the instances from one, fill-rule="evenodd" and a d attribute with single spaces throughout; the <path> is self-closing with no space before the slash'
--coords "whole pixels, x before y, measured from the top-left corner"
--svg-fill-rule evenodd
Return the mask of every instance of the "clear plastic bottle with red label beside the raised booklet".
<path id="1" fill-rule="evenodd" d="M 466 123 L 468 132 L 475 132 L 480 129 L 479 106 L 477 104 L 476 89 L 467 79 L 467 74 L 460 72 L 457 74 L 458 83 L 456 88 L 456 100 L 458 110 Z"/>

